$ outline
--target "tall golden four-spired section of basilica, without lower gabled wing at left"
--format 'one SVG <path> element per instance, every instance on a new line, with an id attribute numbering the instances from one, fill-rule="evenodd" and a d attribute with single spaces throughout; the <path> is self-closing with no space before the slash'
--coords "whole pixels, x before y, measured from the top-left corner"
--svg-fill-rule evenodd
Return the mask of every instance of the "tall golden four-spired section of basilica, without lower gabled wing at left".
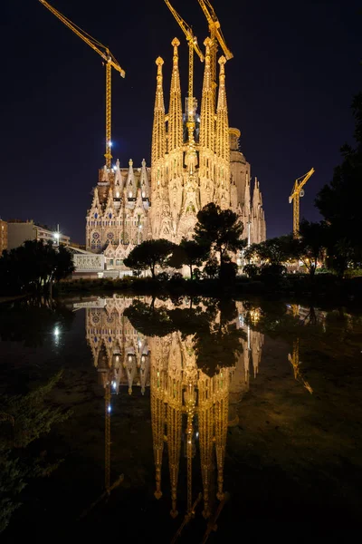
<path id="1" fill-rule="evenodd" d="M 196 102 L 182 112 L 178 46 L 173 46 L 173 66 L 168 113 L 163 92 L 163 60 L 157 58 L 157 89 L 152 131 L 152 207 L 150 224 L 153 238 L 176 243 L 190 238 L 197 212 L 209 202 L 233 209 L 244 224 L 250 243 L 266 237 L 260 186 L 255 181 L 251 196 L 250 164 L 239 150 L 240 131 L 229 128 L 224 56 L 219 58 L 219 88 L 216 107 L 211 67 L 211 40 L 205 40 L 205 72 L 201 112 Z M 190 113 L 191 111 L 191 113 Z M 190 123 L 190 115 L 193 120 Z M 197 123 L 196 123 L 197 121 Z M 190 129 L 199 124 L 199 131 Z"/>

